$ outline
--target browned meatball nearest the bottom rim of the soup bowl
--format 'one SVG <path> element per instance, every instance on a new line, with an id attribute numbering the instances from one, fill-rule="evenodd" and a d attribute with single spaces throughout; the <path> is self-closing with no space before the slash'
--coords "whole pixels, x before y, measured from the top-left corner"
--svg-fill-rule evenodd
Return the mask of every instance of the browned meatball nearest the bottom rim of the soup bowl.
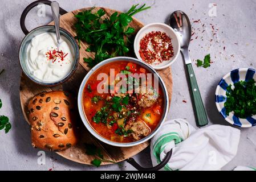
<path id="1" fill-rule="evenodd" d="M 125 126 L 125 130 L 132 130 L 132 137 L 139 140 L 141 137 L 147 137 L 151 133 L 151 129 L 141 119 L 136 122 L 130 122 Z"/>

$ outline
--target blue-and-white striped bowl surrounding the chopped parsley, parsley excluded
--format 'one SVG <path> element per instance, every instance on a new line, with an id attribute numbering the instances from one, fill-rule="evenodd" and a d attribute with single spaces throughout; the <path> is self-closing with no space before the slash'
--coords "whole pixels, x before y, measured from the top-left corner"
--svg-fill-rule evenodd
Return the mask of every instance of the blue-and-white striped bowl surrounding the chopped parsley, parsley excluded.
<path id="1" fill-rule="evenodd" d="M 226 109 L 224 107 L 224 103 L 226 102 L 226 88 L 230 84 L 233 85 L 235 82 L 240 80 L 247 81 L 251 78 L 256 80 L 255 70 L 251 68 L 240 68 L 234 69 L 230 73 L 227 73 L 221 81 L 219 82 L 216 93 L 215 93 L 215 102 L 218 111 L 225 118 L 227 122 L 231 125 L 239 126 L 239 127 L 251 127 L 256 125 L 256 115 L 253 117 L 248 117 L 246 119 L 238 118 L 234 115 L 233 112 L 229 113 L 229 116 L 226 114 Z"/>

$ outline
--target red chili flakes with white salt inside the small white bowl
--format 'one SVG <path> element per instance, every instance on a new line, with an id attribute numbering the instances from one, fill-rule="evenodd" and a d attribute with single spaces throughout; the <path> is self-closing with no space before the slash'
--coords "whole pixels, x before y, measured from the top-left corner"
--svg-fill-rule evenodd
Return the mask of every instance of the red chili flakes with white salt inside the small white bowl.
<path id="1" fill-rule="evenodd" d="M 152 31 L 140 40 L 140 57 L 149 64 L 160 64 L 174 56 L 172 40 L 165 32 Z"/>

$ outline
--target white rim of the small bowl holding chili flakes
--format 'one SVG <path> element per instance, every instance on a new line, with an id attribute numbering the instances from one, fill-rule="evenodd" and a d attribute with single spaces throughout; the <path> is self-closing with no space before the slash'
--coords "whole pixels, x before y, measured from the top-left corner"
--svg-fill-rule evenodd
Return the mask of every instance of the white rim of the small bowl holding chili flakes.
<path id="1" fill-rule="evenodd" d="M 139 55 L 139 50 L 136 50 L 136 46 L 137 44 L 139 43 L 139 35 L 141 34 L 142 31 L 144 31 L 145 29 L 147 29 L 148 27 L 150 26 L 164 26 L 166 28 L 168 28 L 170 31 L 172 31 L 177 39 L 177 42 L 178 42 L 178 50 L 177 50 L 177 53 L 176 55 L 173 56 L 173 60 L 170 61 L 170 60 L 167 60 L 169 61 L 168 64 L 166 65 L 162 65 L 162 66 L 157 66 L 157 65 L 153 65 L 153 64 L 149 64 L 149 63 L 146 63 L 145 61 L 143 61 Z M 174 29 L 172 27 L 170 27 L 168 24 L 165 24 L 165 23 L 149 23 L 147 25 L 145 25 L 144 27 L 142 27 L 136 34 L 135 36 L 135 39 L 134 39 L 134 42 L 133 42 L 133 50 L 135 52 L 135 55 L 137 57 L 137 59 L 143 61 L 144 63 L 146 64 L 149 64 L 151 65 L 152 68 L 156 69 L 156 70 L 161 70 L 161 69 L 164 69 L 164 68 L 167 68 L 169 67 L 170 65 L 172 65 L 178 58 L 178 55 L 180 54 L 180 49 L 181 49 L 181 44 L 180 44 L 180 39 L 178 38 L 178 34 L 176 31 L 174 31 Z"/>

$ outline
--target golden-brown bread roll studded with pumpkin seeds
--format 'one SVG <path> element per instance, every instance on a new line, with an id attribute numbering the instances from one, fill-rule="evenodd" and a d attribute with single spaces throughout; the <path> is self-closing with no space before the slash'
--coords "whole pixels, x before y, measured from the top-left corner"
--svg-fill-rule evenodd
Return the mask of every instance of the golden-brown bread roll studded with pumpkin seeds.
<path id="1" fill-rule="evenodd" d="M 61 151 L 77 143 L 74 101 L 71 94 L 63 91 L 43 92 L 29 101 L 33 147 Z"/>

